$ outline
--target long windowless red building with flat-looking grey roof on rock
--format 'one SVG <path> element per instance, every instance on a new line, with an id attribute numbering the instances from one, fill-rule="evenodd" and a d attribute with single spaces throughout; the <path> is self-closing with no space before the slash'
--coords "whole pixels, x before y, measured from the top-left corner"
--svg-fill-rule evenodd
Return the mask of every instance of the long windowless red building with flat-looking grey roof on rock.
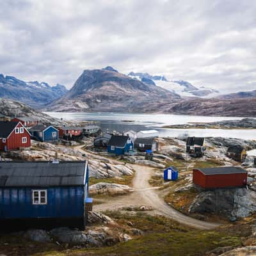
<path id="1" fill-rule="evenodd" d="M 193 182 L 204 189 L 242 187 L 247 184 L 247 172 L 235 166 L 194 169 Z"/>

